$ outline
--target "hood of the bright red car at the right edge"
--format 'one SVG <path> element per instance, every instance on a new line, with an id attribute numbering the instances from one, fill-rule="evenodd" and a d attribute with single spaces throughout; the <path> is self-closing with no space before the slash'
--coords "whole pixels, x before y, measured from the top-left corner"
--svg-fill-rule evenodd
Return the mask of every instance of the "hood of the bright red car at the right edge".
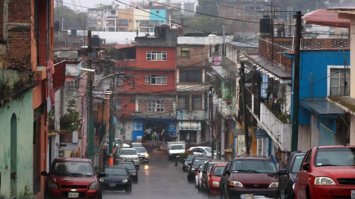
<path id="1" fill-rule="evenodd" d="M 318 166 L 313 169 L 317 176 L 330 177 L 335 182 L 337 178 L 355 178 L 355 166 Z"/>

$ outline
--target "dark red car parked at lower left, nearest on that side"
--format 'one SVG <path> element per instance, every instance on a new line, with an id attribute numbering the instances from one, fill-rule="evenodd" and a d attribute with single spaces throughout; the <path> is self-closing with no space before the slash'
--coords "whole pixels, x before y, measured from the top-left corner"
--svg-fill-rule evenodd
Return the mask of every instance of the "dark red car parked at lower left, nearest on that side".
<path id="1" fill-rule="evenodd" d="M 101 199 L 98 177 L 104 173 L 95 172 L 89 159 L 56 158 L 47 171 L 41 172 L 47 176 L 46 198 L 50 199 Z"/>

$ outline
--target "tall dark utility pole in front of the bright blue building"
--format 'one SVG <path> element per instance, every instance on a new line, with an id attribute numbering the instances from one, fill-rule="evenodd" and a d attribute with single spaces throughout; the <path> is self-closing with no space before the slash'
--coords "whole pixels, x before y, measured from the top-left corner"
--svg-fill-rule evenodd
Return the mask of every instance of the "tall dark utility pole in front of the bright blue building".
<path id="1" fill-rule="evenodd" d="M 291 151 L 298 149 L 298 120 L 300 108 L 300 46 L 301 46 L 301 11 L 296 12 L 295 28 L 295 64 L 293 73 L 293 107 L 292 107 L 292 137 Z"/>

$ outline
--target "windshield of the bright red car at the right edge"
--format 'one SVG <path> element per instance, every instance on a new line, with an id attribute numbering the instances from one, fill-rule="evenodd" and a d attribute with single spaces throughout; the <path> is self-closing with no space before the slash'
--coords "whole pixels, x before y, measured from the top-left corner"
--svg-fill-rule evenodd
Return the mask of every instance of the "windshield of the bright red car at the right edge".
<path id="1" fill-rule="evenodd" d="M 316 166 L 355 166 L 355 148 L 321 148 L 317 150 Z"/>

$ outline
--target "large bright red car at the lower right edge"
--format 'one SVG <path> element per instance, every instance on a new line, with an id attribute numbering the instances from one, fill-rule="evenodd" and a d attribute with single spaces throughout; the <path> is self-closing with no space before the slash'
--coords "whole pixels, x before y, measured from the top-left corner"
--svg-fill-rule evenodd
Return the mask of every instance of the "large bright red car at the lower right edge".
<path id="1" fill-rule="evenodd" d="M 308 150 L 295 182 L 297 199 L 355 198 L 355 146 Z"/>

